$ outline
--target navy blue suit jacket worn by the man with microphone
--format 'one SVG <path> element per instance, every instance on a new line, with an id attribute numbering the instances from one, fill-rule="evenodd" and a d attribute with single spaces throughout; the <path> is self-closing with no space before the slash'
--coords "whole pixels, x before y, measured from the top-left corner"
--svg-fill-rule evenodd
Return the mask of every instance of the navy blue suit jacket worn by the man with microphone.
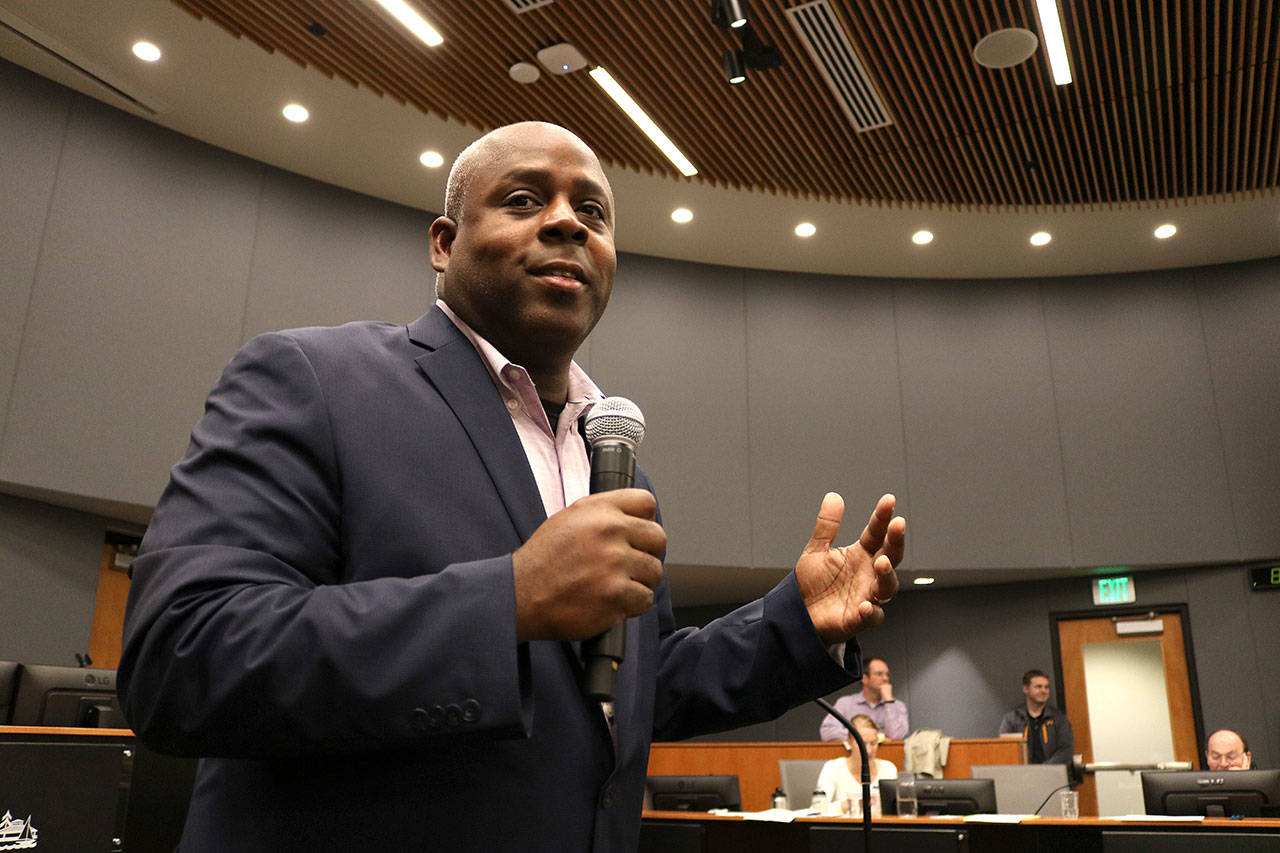
<path id="1" fill-rule="evenodd" d="M 516 642 L 511 553 L 544 519 L 439 309 L 246 345 L 133 564 L 119 666 L 137 734 L 204 757 L 182 849 L 634 849 L 652 739 L 860 669 L 794 576 L 678 631 L 664 579 L 628 622 L 614 754 L 572 644 Z"/>

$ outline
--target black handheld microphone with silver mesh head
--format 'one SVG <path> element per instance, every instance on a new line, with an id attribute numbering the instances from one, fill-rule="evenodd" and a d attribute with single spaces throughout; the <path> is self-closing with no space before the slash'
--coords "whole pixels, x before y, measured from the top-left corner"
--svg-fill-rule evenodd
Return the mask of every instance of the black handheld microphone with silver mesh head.
<path id="1" fill-rule="evenodd" d="M 628 489 L 636 479 L 636 447 L 644 441 L 644 415 L 626 397 L 605 397 L 586 416 L 591 446 L 590 492 Z M 613 683 L 627 642 L 627 621 L 582 643 L 582 692 L 593 699 L 613 701 Z"/>

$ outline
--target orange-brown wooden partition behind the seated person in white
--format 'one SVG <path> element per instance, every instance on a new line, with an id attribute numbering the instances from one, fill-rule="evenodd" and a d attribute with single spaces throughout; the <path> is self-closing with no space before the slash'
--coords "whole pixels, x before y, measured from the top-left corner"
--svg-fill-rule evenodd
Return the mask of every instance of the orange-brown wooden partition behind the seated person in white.
<path id="1" fill-rule="evenodd" d="M 655 743 L 649 748 L 650 776 L 698 774 L 735 774 L 742 794 L 742 808 L 749 812 L 769 807 L 773 789 L 781 784 L 778 761 L 794 758 L 840 758 L 840 743 L 774 742 L 774 743 Z M 904 766 L 902 742 L 886 740 L 879 757 Z M 951 740 L 943 776 L 968 779 L 974 765 L 1019 765 L 1023 742 L 1014 738 L 973 738 Z"/>

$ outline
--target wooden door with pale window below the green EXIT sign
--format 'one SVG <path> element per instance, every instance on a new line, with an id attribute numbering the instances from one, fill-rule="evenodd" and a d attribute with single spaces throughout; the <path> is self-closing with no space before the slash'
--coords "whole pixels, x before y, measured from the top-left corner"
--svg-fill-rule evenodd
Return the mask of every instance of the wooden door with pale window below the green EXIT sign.
<path id="1" fill-rule="evenodd" d="M 1158 633 L 1126 635 L 1117 633 L 1117 624 L 1144 620 L 1158 624 Z M 1116 615 L 1098 617 L 1060 617 L 1057 621 L 1059 660 L 1062 674 L 1062 702 L 1066 716 L 1075 733 L 1075 752 L 1084 757 L 1085 763 L 1096 761 L 1116 761 L 1117 756 L 1094 754 L 1093 731 L 1089 715 L 1089 694 L 1085 680 L 1085 647 L 1098 647 L 1115 643 L 1144 643 L 1148 647 L 1158 643 L 1164 663 L 1164 688 L 1169 707 L 1169 730 L 1171 735 L 1172 760 L 1192 762 L 1199 767 L 1197 747 L 1198 702 L 1192 693 L 1193 674 L 1188 667 L 1188 643 L 1183 629 L 1180 612 L 1140 615 Z M 1117 651 L 1117 649 L 1112 649 Z M 1119 649 L 1124 651 L 1124 649 Z M 1130 649 L 1137 651 L 1137 649 Z M 1138 688 L 1135 688 L 1138 689 Z M 1094 697 L 1100 702 L 1126 702 L 1124 695 Z M 1135 715 L 1132 725 L 1134 734 L 1142 734 L 1140 726 L 1152 725 L 1146 715 Z M 1119 771 L 1123 772 L 1123 771 Z M 1094 776 L 1085 774 L 1080 785 L 1080 815 L 1098 815 L 1098 792 Z"/>

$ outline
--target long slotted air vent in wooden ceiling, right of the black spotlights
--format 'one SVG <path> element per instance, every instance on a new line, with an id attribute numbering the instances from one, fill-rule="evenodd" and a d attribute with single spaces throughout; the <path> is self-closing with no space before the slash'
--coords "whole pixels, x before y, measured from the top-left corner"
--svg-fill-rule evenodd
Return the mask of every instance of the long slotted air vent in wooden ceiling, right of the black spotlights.
<path id="1" fill-rule="evenodd" d="M 509 0 L 508 0 L 509 1 Z M 867 76 L 854 44 L 827 0 L 814 0 L 786 10 L 832 95 L 859 131 L 893 123 L 876 83 Z"/>

